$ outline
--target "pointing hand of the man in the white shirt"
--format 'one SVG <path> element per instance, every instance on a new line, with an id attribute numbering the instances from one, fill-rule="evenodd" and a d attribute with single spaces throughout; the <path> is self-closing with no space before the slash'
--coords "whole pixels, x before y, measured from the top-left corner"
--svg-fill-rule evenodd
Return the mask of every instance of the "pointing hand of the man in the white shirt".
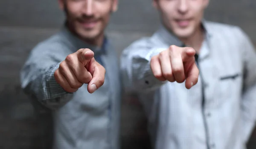
<path id="1" fill-rule="evenodd" d="M 151 58 L 151 70 L 160 81 L 182 83 L 186 80 L 185 86 L 190 89 L 198 82 L 199 76 L 194 56 L 194 49 L 172 45 Z"/>

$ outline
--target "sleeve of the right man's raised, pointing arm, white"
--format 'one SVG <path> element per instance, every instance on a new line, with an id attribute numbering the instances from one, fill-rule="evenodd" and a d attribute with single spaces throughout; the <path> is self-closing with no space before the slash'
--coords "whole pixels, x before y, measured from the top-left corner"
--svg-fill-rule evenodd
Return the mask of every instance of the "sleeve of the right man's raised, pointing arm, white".
<path id="1" fill-rule="evenodd" d="M 166 83 L 155 78 L 150 68 L 151 57 L 166 49 L 138 41 L 122 52 L 121 73 L 125 92 L 150 92 Z"/>

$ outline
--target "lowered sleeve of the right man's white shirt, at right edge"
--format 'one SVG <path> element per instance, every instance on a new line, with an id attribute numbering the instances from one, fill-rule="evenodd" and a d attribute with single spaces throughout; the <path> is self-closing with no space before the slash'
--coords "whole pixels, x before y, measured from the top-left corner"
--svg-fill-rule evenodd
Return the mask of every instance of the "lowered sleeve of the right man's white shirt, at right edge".
<path id="1" fill-rule="evenodd" d="M 247 34 L 239 28 L 244 60 L 244 85 L 241 100 L 244 140 L 247 142 L 256 120 L 256 52 Z"/>

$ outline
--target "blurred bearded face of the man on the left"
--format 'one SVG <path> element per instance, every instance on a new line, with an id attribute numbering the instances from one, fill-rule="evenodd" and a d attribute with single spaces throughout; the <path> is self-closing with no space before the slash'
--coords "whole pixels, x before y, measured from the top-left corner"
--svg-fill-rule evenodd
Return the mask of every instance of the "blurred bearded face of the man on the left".
<path id="1" fill-rule="evenodd" d="M 83 40 L 97 40 L 104 34 L 118 0 L 58 0 L 66 12 L 68 26 Z"/>

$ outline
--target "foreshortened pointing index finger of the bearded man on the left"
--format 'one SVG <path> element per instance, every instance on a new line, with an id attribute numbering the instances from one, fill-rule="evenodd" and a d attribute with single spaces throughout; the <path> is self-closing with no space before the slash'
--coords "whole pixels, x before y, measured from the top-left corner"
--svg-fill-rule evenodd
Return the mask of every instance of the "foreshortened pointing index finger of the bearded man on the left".
<path id="1" fill-rule="evenodd" d="M 90 49 L 79 49 L 77 52 L 78 60 L 85 66 L 93 58 L 94 53 Z"/>

